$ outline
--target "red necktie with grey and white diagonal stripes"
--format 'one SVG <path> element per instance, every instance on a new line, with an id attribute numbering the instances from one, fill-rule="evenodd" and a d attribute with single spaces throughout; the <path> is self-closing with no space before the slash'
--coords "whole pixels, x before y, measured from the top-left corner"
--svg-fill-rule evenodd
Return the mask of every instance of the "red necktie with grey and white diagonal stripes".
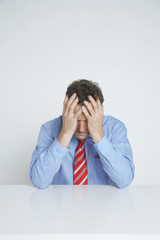
<path id="1" fill-rule="evenodd" d="M 88 184 L 88 171 L 86 153 L 84 149 L 84 142 L 80 140 L 80 143 L 76 149 L 74 159 L 74 185 L 87 185 Z"/>

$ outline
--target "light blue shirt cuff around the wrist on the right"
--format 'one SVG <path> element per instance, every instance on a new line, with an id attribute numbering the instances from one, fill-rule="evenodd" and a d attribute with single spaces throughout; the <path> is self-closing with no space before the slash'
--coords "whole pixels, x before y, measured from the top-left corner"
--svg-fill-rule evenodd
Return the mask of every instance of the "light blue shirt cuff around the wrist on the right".
<path id="1" fill-rule="evenodd" d="M 96 151 L 98 153 L 101 153 L 102 155 L 106 156 L 106 154 L 111 150 L 112 144 L 111 142 L 107 139 L 106 136 L 101 138 L 101 140 L 98 143 L 93 144 Z"/>

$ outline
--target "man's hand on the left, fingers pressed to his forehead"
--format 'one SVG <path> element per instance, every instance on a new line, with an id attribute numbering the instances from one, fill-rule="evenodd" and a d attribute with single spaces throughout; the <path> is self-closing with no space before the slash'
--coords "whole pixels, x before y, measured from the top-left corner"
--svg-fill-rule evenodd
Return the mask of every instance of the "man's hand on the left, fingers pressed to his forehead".
<path id="1" fill-rule="evenodd" d="M 76 93 L 74 93 L 70 98 L 68 98 L 68 95 L 66 95 L 63 102 L 63 126 L 59 136 L 57 137 L 57 140 L 64 147 L 68 147 L 77 127 L 77 118 L 82 113 L 81 108 L 77 111 L 77 113 L 74 113 L 74 109 L 78 101 L 79 99 L 76 97 Z"/>

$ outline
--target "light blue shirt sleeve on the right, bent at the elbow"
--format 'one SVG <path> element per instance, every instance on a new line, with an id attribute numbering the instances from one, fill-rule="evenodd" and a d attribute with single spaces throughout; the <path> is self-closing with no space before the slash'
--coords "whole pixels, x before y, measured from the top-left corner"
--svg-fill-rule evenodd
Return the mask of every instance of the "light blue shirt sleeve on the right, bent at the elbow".
<path id="1" fill-rule="evenodd" d="M 135 166 L 125 124 L 120 124 L 111 140 L 106 135 L 96 144 L 104 171 L 118 188 L 125 188 L 134 178 Z"/>

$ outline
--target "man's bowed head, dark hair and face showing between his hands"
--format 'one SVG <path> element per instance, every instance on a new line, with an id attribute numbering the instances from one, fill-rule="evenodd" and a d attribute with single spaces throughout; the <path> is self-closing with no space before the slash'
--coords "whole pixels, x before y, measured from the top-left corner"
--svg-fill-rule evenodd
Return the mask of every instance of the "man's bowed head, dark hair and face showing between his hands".
<path id="1" fill-rule="evenodd" d="M 92 82 L 91 80 L 79 79 L 72 82 L 68 86 L 66 94 L 70 98 L 73 95 L 73 93 L 76 93 L 79 99 L 79 102 L 75 107 L 74 113 L 76 113 L 82 106 L 84 106 L 84 103 L 83 103 L 84 100 L 90 102 L 88 99 L 89 95 L 91 95 L 95 100 L 97 100 L 98 98 L 101 104 L 104 101 L 102 90 L 99 87 L 99 84 L 96 82 Z M 83 114 L 83 112 L 78 117 L 77 129 L 75 131 L 75 135 L 80 140 L 84 140 L 89 135 L 89 131 L 87 127 L 87 119 Z"/>

